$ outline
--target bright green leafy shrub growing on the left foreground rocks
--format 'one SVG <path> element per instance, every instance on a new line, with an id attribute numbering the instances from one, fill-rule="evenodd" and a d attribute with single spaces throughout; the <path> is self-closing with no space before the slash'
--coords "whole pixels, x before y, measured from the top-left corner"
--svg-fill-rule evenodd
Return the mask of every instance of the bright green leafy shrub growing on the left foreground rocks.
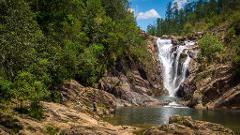
<path id="1" fill-rule="evenodd" d="M 20 72 L 13 83 L 12 95 L 20 101 L 20 106 L 16 108 L 19 113 L 41 119 L 43 118 L 43 108 L 40 100 L 48 97 L 49 91 L 41 81 L 36 80 L 35 76 L 29 72 Z M 31 101 L 30 106 L 25 106 L 23 101 Z"/>

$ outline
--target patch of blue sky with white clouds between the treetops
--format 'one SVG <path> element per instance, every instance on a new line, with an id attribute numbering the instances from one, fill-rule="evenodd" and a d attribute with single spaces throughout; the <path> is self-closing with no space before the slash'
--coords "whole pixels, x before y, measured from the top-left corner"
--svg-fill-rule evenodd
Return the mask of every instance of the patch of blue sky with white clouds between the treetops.
<path id="1" fill-rule="evenodd" d="M 130 10 L 134 12 L 138 26 L 146 30 L 149 24 L 154 24 L 157 18 L 165 18 L 169 2 L 177 2 L 179 8 L 188 0 L 129 0 Z"/>

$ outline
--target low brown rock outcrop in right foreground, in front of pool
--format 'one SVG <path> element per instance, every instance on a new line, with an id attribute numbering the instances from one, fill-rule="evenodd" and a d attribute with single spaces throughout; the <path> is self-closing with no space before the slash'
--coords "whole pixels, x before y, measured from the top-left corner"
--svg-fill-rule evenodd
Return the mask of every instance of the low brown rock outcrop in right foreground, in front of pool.
<path id="1" fill-rule="evenodd" d="M 172 116 L 168 125 L 151 128 L 144 135 L 234 135 L 234 132 L 219 124 Z"/>

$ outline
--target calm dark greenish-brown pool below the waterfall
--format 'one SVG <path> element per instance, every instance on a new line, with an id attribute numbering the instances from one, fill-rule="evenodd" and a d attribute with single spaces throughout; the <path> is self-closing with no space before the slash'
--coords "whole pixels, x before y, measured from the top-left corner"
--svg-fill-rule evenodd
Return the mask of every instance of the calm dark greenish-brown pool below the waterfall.
<path id="1" fill-rule="evenodd" d="M 107 120 L 115 125 L 149 126 L 167 124 L 169 117 L 173 115 L 191 116 L 195 120 L 219 123 L 240 135 L 240 111 L 174 107 L 122 107 L 116 110 L 114 117 Z"/>

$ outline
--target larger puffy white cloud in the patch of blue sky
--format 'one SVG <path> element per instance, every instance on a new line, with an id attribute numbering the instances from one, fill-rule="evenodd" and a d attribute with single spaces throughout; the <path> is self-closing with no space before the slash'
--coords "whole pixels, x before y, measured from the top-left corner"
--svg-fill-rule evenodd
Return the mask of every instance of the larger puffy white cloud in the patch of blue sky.
<path id="1" fill-rule="evenodd" d="M 151 18 L 160 18 L 160 15 L 155 9 L 150 9 L 146 12 L 139 12 L 137 14 L 137 19 L 138 20 L 147 20 Z"/>

